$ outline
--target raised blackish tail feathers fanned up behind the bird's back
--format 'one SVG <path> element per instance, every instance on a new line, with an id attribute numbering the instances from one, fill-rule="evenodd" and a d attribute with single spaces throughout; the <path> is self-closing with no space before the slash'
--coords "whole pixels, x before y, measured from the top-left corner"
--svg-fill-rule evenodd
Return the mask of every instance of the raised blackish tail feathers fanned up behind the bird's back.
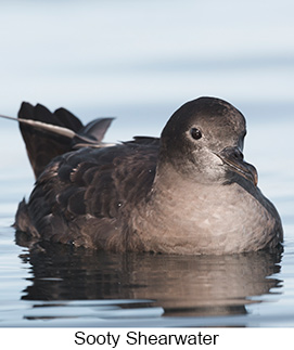
<path id="1" fill-rule="evenodd" d="M 23 102 L 18 112 L 20 129 L 26 144 L 26 150 L 36 179 L 54 157 L 74 150 L 77 143 L 98 145 L 106 132 L 113 118 L 95 119 L 86 127 L 65 108 L 51 113 L 44 106 L 33 106 Z M 21 119 L 41 121 L 46 126 L 61 127 L 72 132 L 61 133 L 59 128 L 43 128 L 39 124 L 27 125 Z"/>

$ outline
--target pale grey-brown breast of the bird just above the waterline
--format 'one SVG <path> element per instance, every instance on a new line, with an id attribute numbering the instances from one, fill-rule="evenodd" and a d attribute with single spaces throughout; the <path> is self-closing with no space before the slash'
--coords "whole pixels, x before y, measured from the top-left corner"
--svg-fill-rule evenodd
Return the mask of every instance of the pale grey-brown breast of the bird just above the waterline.
<path id="1" fill-rule="evenodd" d="M 233 254 L 266 247 L 277 220 L 263 200 L 234 183 L 155 189 L 133 225 L 145 250 Z"/>

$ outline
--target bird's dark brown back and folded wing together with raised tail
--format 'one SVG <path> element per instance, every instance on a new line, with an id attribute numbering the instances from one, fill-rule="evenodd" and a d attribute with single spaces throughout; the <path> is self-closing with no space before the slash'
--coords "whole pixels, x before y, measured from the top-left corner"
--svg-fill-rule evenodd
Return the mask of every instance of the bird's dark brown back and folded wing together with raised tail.
<path id="1" fill-rule="evenodd" d="M 25 233 L 25 241 L 125 250 L 126 217 L 148 197 L 158 139 L 105 146 L 101 141 L 112 118 L 84 127 L 68 111 L 51 113 L 39 104 L 23 103 L 18 118 L 53 126 L 51 132 L 20 122 L 37 179 L 29 200 L 23 200 L 16 213 L 15 228 Z M 55 127 L 75 137 L 55 133 Z"/>

